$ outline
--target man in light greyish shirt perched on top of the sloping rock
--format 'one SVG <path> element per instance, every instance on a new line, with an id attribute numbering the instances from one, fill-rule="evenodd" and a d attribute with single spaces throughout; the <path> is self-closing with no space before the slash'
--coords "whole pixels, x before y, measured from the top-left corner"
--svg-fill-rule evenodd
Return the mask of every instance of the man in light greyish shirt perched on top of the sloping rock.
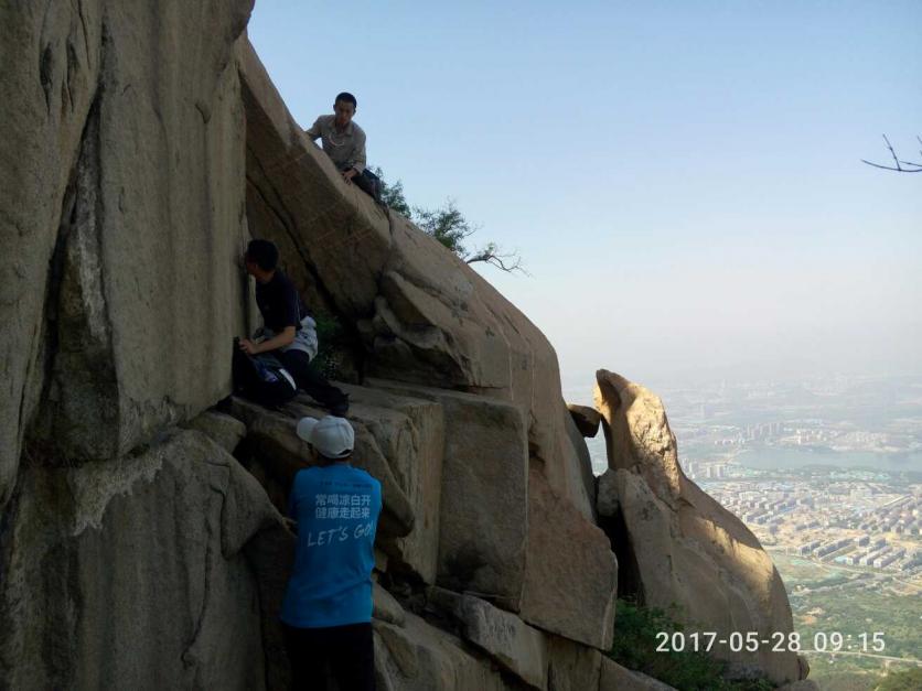
<path id="1" fill-rule="evenodd" d="M 346 184 L 355 183 L 378 199 L 378 179 L 365 169 L 365 130 L 352 121 L 357 108 L 355 96 L 343 91 L 333 104 L 334 115 L 320 116 L 305 134 L 311 141 L 320 139 L 323 152 L 333 161 Z"/>

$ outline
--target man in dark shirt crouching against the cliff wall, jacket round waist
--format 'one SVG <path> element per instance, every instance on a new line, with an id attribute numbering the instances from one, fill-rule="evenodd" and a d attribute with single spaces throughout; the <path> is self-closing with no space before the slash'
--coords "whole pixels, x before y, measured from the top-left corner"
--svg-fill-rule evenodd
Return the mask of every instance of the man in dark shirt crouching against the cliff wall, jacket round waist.
<path id="1" fill-rule="evenodd" d="M 299 388 L 334 415 L 345 415 L 349 397 L 310 367 L 318 345 L 314 321 L 304 310 L 294 284 L 278 268 L 278 259 L 279 250 L 269 240 L 253 240 L 247 246 L 244 264 L 256 279 L 256 304 L 262 315 L 265 339 L 242 338 L 240 350 L 247 355 L 271 353 Z"/>

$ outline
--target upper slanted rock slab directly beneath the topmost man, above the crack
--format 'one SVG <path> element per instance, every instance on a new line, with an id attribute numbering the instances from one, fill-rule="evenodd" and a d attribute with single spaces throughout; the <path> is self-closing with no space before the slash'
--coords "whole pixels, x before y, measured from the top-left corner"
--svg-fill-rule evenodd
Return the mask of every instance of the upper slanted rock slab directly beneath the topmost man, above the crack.
<path id="1" fill-rule="evenodd" d="M 237 51 L 246 109 L 247 220 L 317 307 L 371 314 L 390 253 L 387 215 L 291 117 L 249 42 Z"/>

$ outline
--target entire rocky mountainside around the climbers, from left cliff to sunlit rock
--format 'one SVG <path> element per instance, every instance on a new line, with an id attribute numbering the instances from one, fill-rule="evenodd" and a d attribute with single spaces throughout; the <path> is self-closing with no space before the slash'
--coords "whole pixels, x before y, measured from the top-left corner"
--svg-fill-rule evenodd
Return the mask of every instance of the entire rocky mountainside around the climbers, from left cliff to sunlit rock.
<path id="1" fill-rule="evenodd" d="M 249 45 L 251 7 L 0 7 L 0 689 L 288 688 L 281 511 L 308 463 L 297 421 L 326 411 L 232 396 L 251 237 L 344 334 L 354 463 L 384 495 L 379 688 L 657 688 L 603 655 L 621 579 L 598 522 L 639 501 L 656 510 L 629 537 L 663 552 L 622 570 L 647 598 L 709 577 L 701 612 L 790 628 L 771 563 L 684 481 L 664 417 L 634 440 L 603 397 L 597 501 L 598 414 L 567 409 L 554 348 L 343 183 Z"/>

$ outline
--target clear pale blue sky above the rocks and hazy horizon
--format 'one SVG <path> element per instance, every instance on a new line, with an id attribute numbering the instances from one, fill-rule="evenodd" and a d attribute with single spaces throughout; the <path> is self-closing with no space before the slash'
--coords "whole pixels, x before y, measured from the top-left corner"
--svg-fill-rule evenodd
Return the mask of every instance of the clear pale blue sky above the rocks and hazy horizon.
<path id="1" fill-rule="evenodd" d="M 257 0 L 304 127 L 358 99 L 368 162 L 453 198 L 565 390 L 922 373 L 922 1 Z"/>

